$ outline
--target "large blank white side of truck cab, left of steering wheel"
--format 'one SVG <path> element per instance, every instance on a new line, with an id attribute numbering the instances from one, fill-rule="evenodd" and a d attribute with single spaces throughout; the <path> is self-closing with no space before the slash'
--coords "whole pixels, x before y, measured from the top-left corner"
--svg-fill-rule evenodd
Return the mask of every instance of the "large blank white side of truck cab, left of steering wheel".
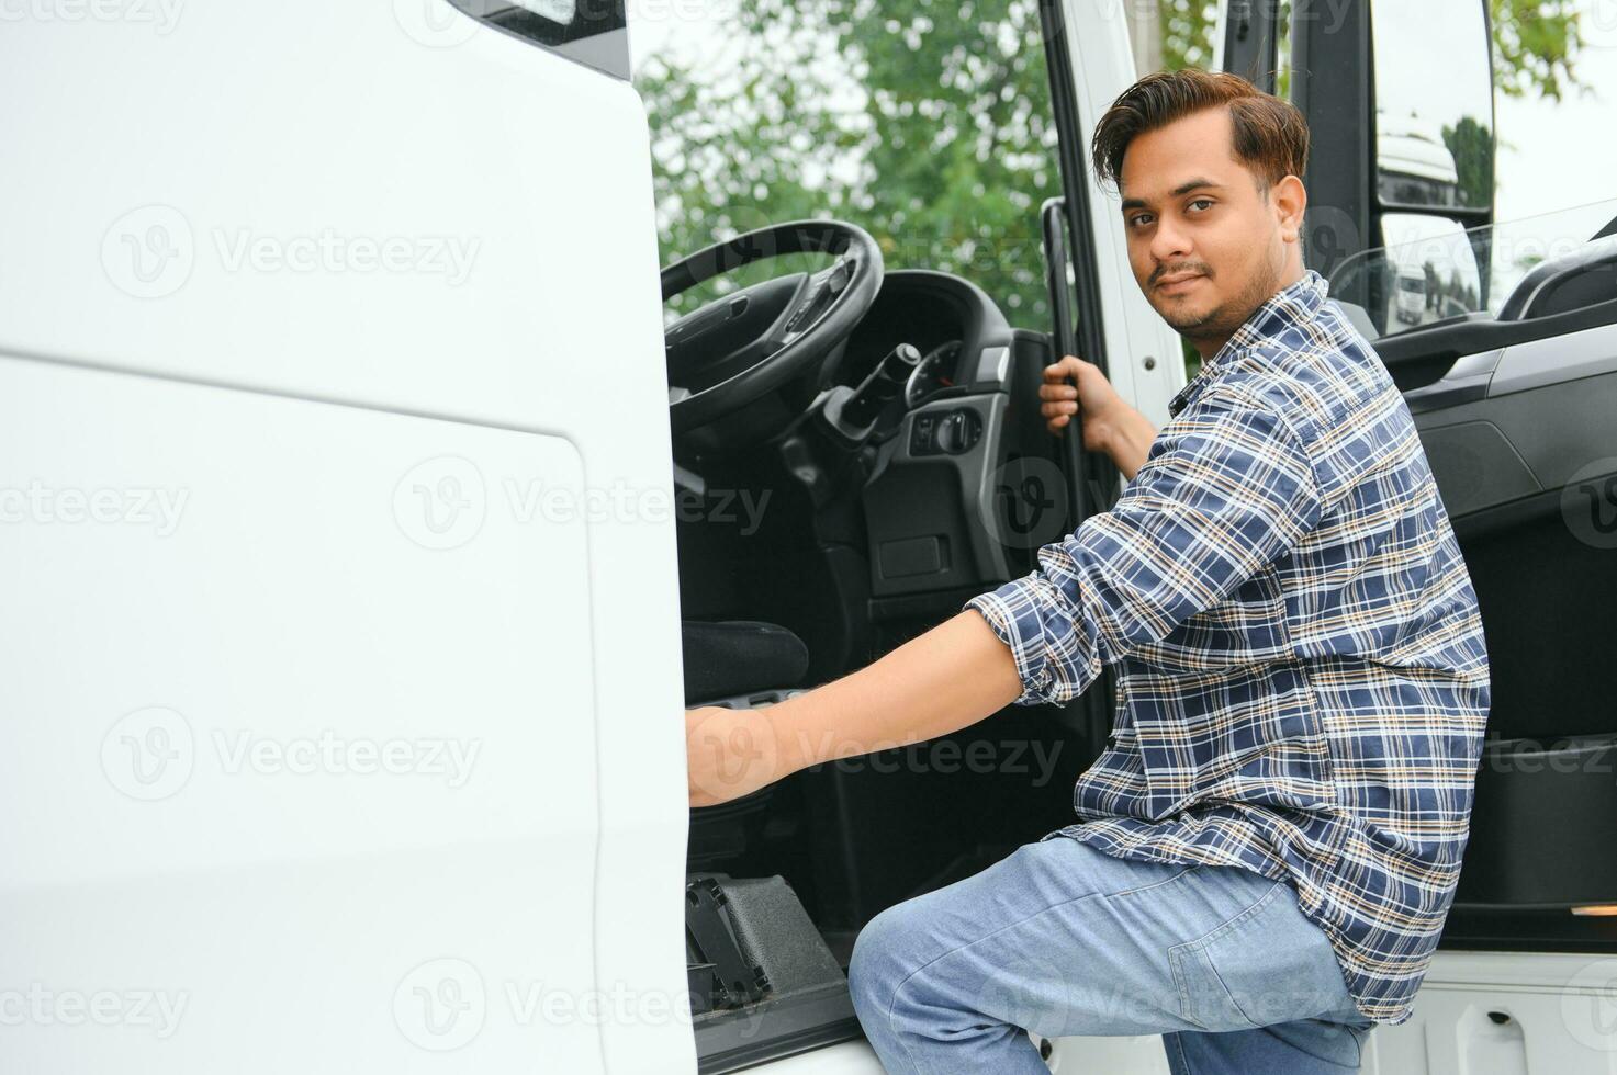
<path id="1" fill-rule="evenodd" d="M 8 15 L 8 1070 L 694 1067 L 610 8 Z"/>

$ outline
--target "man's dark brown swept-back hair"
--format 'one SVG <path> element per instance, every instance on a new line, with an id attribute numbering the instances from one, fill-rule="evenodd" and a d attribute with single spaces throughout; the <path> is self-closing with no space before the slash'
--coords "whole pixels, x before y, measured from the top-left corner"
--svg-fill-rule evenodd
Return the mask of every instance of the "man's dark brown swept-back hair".
<path id="1" fill-rule="evenodd" d="M 1095 175 L 1101 183 L 1122 181 L 1122 157 L 1137 134 L 1167 126 L 1205 108 L 1227 107 L 1234 123 L 1235 157 L 1268 191 L 1308 167 L 1308 123 L 1289 100 L 1240 78 L 1200 68 L 1158 71 L 1125 89 L 1095 124 Z"/>

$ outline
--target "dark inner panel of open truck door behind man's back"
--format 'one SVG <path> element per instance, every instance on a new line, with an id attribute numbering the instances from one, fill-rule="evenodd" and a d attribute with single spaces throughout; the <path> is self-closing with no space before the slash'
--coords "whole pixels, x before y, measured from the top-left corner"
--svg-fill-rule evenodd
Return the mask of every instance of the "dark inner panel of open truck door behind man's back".
<path id="1" fill-rule="evenodd" d="M 1601 330 L 1617 359 L 1617 328 Z M 1583 344 L 1588 346 L 1588 344 Z M 1543 354 L 1543 351 L 1535 351 Z M 1581 364 L 1504 380 L 1486 399 L 1416 415 L 1483 609 L 1489 736 L 1617 731 L 1617 373 Z M 1501 362 L 1494 383 L 1501 383 Z M 1531 388 L 1514 390 L 1522 383 Z"/>

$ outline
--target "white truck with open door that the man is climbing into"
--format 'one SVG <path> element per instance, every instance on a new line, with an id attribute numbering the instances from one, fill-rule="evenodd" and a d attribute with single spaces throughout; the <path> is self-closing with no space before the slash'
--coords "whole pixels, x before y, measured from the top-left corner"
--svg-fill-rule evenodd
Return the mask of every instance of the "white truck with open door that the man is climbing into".
<path id="1" fill-rule="evenodd" d="M 1439 6 L 1434 79 L 1488 48 L 1483 0 Z M 1109 697 L 711 812 L 681 713 L 849 671 L 1025 571 L 1038 511 L 1075 525 L 1032 388 L 1051 333 L 886 265 L 855 209 L 660 272 L 621 3 L 11 13 L 0 1067 L 875 1072 L 859 928 L 1070 821 Z M 1036 15 L 1074 341 L 1161 424 L 1180 344 L 1083 167 L 1129 19 Z M 1292 29 L 1321 272 L 1381 212 L 1370 11 L 1339 15 Z M 1273 71 L 1264 5 L 1221 34 Z M 671 294 L 786 251 L 833 263 L 665 330 Z M 1383 352 L 1502 739 L 1450 936 L 1365 1070 L 1612 1070 L 1617 918 L 1568 908 L 1617 902 L 1617 787 L 1559 765 L 1617 732 L 1617 315 L 1581 291 L 1609 254 Z M 925 372 L 872 394 L 904 346 Z M 1166 1070 L 1158 1039 L 1049 1046 Z"/>

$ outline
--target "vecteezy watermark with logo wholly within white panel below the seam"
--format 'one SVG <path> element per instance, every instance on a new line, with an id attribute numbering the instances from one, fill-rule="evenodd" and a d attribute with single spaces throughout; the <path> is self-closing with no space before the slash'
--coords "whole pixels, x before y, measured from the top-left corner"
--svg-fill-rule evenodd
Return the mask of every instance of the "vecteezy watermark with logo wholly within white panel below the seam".
<path id="1" fill-rule="evenodd" d="M 251 729 L 209 729 L 199 750 L 191 723 L 175 710 L 152 706 L 120 718 L 102 739 L 102 771 L 125 795 L 157 802 L 178 794 L 199 760 L 222 776 L 422 776 L 461 789 L 471 779 L 482 739 L 272 737 Z"/>

